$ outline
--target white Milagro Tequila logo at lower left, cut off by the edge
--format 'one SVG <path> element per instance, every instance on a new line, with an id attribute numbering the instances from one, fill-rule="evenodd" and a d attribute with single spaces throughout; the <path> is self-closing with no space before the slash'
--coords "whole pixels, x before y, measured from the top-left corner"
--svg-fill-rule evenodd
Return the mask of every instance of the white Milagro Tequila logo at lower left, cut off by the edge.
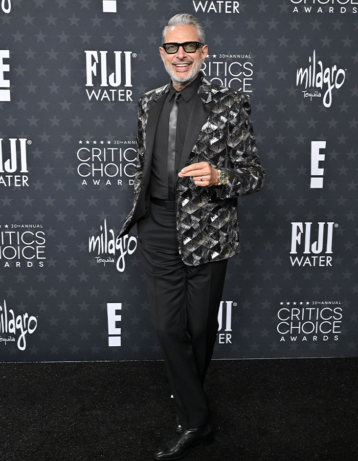
<path id="1" fill-rule="evenodd" d="M 27 312 L 23 315 L 15 316 L 12 309 L 7 309 L 6 301 L 4 306 L 0 305 L 0 344 L 3 342 L 5 345 L 15 341 L 16 334 L 19 334 L 17 339 L 17 347 L 20 350 L 26 349 L 26 335 L 32 334 L 37 327 L 37 319 L 34 316 L 29 316 Z M 14 336 L 12 336 L 14 335 Z"/>

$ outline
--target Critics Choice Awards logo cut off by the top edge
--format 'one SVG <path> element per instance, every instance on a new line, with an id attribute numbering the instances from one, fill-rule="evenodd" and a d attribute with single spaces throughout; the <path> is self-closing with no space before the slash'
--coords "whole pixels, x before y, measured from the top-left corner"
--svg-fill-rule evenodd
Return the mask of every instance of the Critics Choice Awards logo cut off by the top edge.
<path id="1" fill-rule="evenodd" d="M 358 0 L 290 0 L 294 13 L 356 13 Z M 344 5 L 344 6 L 343 6 Z"/>

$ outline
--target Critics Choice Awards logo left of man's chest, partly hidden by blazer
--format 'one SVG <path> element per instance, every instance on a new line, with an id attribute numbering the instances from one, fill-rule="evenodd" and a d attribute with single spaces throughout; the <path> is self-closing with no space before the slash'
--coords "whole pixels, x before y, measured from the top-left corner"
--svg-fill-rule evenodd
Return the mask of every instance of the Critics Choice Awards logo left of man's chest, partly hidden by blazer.
<path id="1" fill-rule="evenodd" d="M 137 150 L 136 141 L 78 141 L 77 173 L 82 185 L 133 185 Z M 84 145 L 83 145 L 84 144 Z"/>

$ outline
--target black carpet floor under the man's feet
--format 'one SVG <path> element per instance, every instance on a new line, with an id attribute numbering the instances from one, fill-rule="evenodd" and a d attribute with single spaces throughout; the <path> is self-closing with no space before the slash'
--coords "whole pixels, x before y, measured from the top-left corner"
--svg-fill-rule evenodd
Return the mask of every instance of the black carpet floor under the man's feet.
<path id="1" fill-rule="evenodd" d="M 174 433 L 163 362 L 0 364 L 1 459 L 146 461 Z M 358 359 L 213 361 L 216 441 L 186 461 L 355 461 Z"/>

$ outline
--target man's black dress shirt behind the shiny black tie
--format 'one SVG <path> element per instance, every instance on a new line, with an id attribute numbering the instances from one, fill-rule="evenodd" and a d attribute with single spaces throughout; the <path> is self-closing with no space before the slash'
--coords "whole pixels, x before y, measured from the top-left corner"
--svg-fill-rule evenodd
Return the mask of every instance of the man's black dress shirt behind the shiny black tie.
<path id="1" fill-rule="evenodd" d="M 185 135 L 188 129 L 188 122 L 193 110 L 198 89 L 200 86 L 201 74 L 199 74 L 187 87 L 180 91 L 178 98 L 178 115 L 176 122 L 175 138 L 175 171 L 174 189 L 178 179 L 178 167 L 182 156 Z M 169 115 L 173 104 L 176 90 L 170 85 L 170 90 L 166 93 L 156 125 L 153 156 L 150 174 L 150 195 L 162 200 L 168 200 L 168 136 L 169 136 Z M 175 197 L 175 190 L 173 191 Z"/>

